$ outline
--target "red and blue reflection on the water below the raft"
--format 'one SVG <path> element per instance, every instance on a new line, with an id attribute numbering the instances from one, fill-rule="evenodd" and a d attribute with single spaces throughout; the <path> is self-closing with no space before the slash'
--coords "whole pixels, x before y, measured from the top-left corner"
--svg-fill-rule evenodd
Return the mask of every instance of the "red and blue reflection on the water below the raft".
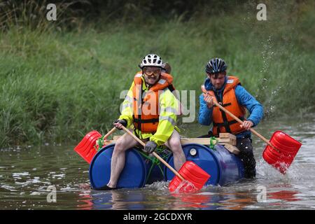
<path id="1" fill-rule="evenodd" d="M 167 185 L 167 182 L 160 182 Z M 219 187 L 218 187 L 219 188 Z M 222 188 L 222 187 L 220 187 Z M 257 203 L 255 195 L 221 192 L 212 187 L 212 192 L 204 188 L 199 193 L 168 193 L 167 191 L 144 189 L 112 190 L 97 192 L 80 198 L 78 209 L 244 209 Z"/>

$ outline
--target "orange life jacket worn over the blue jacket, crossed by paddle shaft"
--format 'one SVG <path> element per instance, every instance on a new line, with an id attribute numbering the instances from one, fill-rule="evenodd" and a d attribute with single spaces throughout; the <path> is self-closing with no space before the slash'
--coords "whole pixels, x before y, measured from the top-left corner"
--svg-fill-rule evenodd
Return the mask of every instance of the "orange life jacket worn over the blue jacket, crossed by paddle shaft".
<path id="1" fill-rule="evenodd" d="M 235 76 L 228 76 L 227 83 L 225 84 L 225 88 L 223 90 L 223 99 L 220 102 L 220 98 L 215 94 L 213 90 L 207 91 L 202 85 L 202 92 L 204 94 L 209 94 L 212 97 L 215 97 L 218 104 L 221 104 L 225 109 L 233 113 L 239 119 L 244 120 L 246 115 L 246 110 L 244 106 L 241 106 L 237 102 L 237 97 L 235 95 L 235 87 L 239 85 L 239 78 Z M 237 134 L 240 132 L 244 132 L 245 129 L 239 126 L 237 120 L 233 119 L 228 113 L 221 111 L 218 106 L 214 105 L 214 110 L 212 112 L 212 122 L 214 128 L 212 132 L 214 136 L 218 137 L 219 133 L 229 132 L 231 134 Z"/>

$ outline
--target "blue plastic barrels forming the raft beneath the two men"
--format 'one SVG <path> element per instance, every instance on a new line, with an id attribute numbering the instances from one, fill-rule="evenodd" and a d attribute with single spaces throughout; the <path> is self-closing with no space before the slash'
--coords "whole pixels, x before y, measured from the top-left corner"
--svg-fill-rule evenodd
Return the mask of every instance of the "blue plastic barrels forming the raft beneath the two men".
<path id="1" fill-rule="evenodd" d="M 111 175 L 111 156 L 115 144 L 105 146 L 98 151 L 90 164 L 90 183 L 99 188 L 109 182 Z M 186 160 L 191 160 L 211 175 L 205 185 L 225 186 L 244 177 L 244 167 L 237 155 L 230 153 L 223 145 L 213 148 L 201 144 L 183 144 Z M 174 167 L 174 158 L 170 151 L 160 156 Z M 118 180 L 118 188 L 142 188 L 155 181 L 171 181 L 174 173 L 154 158 L 148 158 L 137 148 L 131 148 L 125 154 L 125 167 Z"/>

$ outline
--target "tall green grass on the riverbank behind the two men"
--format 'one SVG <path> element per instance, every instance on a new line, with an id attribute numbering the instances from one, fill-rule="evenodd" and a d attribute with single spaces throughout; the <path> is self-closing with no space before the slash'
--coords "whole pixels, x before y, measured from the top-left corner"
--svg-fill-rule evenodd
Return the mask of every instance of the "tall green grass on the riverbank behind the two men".
<path id="1" fill-rule="evenodd" d="M 196 98 L 204 64 L 223 57 L 265 117 L 314 113 L 314 7 L 288 2 L 268 1 L 262 22 L 252 4 L 189 21 L 91 22 L 72 31 L 12 25 L 0 33 L 0 146 L 78 141 L 90 130 L 110 130 L 120 92 L 149 52 L 172 65 L 178 90 L 196 90 Z"/>

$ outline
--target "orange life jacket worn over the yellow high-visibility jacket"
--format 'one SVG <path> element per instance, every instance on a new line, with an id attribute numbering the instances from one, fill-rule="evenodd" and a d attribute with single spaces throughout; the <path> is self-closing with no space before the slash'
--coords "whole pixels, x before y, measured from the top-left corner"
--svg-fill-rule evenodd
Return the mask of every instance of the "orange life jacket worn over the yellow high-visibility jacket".
<path id="1" fill-rule="evenodd" d="M 165 88 L 174 88 L 173 77 L 168 73 L 162 73 L 158 83 L 155 83 L 148 92 L 144 94 L 142 90 L 142 73 L 134 76 L 134 87 L 132 90 L 134 97 L 134 127 L 141 133 L 155 133 L 159 125 L 159 96 Z M 144 94 L 144 96 L 143 96 Z"/>

